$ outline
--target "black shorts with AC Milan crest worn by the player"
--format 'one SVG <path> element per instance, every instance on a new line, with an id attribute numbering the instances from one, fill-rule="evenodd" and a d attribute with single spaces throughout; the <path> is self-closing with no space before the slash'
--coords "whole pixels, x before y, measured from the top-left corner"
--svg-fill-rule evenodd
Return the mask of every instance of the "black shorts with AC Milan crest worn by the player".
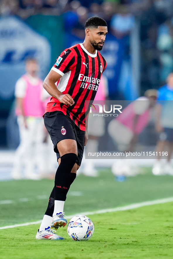
<path id="1" fill-rule="evenodd" d="M 76 163 L 81 164 L 85 144 L 85 131 L 79 127 L 61 111 L 47 112 L 44 115 L 44 125 L 54 144 L 57 159 L 60 158 L 57 143 L 63 139 L 74 139 L 77 142 L 78 157 Z"/>

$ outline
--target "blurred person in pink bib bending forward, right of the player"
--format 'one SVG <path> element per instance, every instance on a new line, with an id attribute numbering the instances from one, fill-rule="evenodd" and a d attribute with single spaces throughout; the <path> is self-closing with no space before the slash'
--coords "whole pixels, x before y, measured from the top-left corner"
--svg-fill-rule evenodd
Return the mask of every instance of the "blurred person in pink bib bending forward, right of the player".
<path id="1" fill-rule="evenodd" d="M 157 90 L 148 89 L 144 95 L 131 102 L 116 119 L 109 122 L 108 133 L 120 152 L 135 151 L 138 136 L 149 123 L 151 111 L 157 99 Z M 134 160 L 115 160 L 112 173 L 117 181 L 124 181 L 125 176 L 136 175 Z"/>

